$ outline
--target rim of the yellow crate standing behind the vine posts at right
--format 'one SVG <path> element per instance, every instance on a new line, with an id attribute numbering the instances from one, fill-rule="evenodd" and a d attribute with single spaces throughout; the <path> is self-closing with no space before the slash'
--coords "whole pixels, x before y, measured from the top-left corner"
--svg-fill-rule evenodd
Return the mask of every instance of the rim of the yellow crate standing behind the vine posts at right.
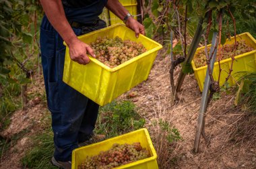
<path id="1" fill-rule="evenodd" d="M 256 44 L 255 38 L 253 38 L 253 36 L 251 36 L 251 34 L 250 34 L 249 32 L 244 32 L 244 33 L 238 34 L 238 35 L 236 35 L 236 36 L 243 36 L 243 35 L 249 36 L 249 38 L 251 38 L 251 40 L 253 40 L 253 42 L 255 42 L 255 44 Z M 230 38 L 230 40 L 231 40 L 231 39 L 234 39 L 234 36 L 232 36 L 232 37 Z M 229 40 L 229 39 L 227 38 L 226 40 Z M 208 44 L 207 46 L 212 46 L 212 44 Z M 201 49 L 203 49 L 203 48 L 205 48 L 205 46 L 202 46 L 202 47 L 200 47 L 200 48 L 197 48 L 197 50 L 201 50 Z M 247 56 L 247 54 L 253 54 L 253 53 L 256 53 L 256 49 L 252 50 L 251 52 L 246 52 L 246 53 L 244 53 L 244 54 L 239 54 L 239 55 L 237 55 L 237 56 L 234 56 L 234 60 L 236 60 L 236 59 L 238 59 L 238 58 L 243 58 L 243 57 Z M 220 60 L 220 64 L 229 62 L 230 60 L 232 60 L 232 58 L 226 58 L 226 59 L 224 59 L 224 60 Z M 196 67 L 195 67 L 195 62 L 194 62 L 193 60 L 191 60 L 191 64 L 192 64 L 193 70 L 202 70 L 202 69 L 207 68 L 207 65 L 201 66 L 201 67 L 199 67 L 199 68 L 196 68 Z M 216 65 L 218 65 L 218 64 L 219 64 L 218 62 L 214 62 L 214 66 L 216 66 Z"/>

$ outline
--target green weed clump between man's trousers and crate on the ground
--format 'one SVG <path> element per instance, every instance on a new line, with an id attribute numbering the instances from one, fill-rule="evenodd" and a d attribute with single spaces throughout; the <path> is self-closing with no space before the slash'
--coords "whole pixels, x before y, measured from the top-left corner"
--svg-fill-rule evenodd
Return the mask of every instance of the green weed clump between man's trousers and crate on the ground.
<path id="1" fill-rule="evenodd" d="M 114 137 L 143 127 L 145 119 L 139 117 L 130 101 L 112 102 L 100 107 L 96 132 Z"/>

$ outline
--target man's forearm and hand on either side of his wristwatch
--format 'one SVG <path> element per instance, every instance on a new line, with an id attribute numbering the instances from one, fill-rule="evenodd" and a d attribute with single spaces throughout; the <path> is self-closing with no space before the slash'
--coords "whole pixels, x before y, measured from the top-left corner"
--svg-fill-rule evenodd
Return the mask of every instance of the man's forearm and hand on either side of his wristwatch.
<path id="1" fill-rule="evenodd" d="M 123 5 L 118 0 L 108 0 L 106 7 L 115 13 L 115 15 L 117 15 L 121 20 L 123 20 L 127 13 L 129 13 L 129 11 L 127 11 L 127 9 L 125 9 L 125 7 L 123 7 Z M 143 25 L 141 25 L 141 23 L 136 21 L 133 17 L 128 17 L 125 24 L 127 27 L 131 28 L 131 30 L 134 30 L 135 36 L 137 38 L 139 37 L 139 33 L 145 35 Z"/>

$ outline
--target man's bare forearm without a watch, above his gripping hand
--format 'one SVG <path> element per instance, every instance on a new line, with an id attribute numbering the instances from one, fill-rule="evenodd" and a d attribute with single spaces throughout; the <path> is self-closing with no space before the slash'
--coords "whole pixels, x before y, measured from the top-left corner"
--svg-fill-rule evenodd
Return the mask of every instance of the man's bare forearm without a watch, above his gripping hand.
<path id="1" fill-rule="evenodd" d="M 67 43 L 67 46 L 77 40 L 75 33 L 73 32 L 67 18 L 61 0 L 40 0 L 45 15 L 55 28 L 55 30 L 61 35 L 61 38 Z"/>

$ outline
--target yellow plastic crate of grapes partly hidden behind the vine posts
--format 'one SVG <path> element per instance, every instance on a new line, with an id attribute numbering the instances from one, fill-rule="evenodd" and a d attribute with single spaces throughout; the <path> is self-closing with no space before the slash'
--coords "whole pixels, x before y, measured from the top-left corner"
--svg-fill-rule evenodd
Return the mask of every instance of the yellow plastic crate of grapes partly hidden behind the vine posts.
<path id="1" fill-rule="evenodd" d="M 237 35 L 236 40 L 237 41 L 245 40 L 245 43 L 251 46 L 254 50 L 234 57 L 235 60 L 233 63 L 233 71 L 231 74 L 234 78 L 230 76 L 228 80 L 228 84 L 230 84 L 230 86 L 236 84 L 235 80 L 238 80 L 238 78 L 240 78 L 237 72 L 242 72 L 242 71 L 255 72 L 256 71 L 256 40 L 248 32 Z M 230 40 L 227 39 L 225 44 L 234 44 L 234 37 L 230 38 Z M 207 46 L 211 46 L 211 44 Z M 205 47 L 197 48 L 197 51 L 204 48 Z M 216 60 L 218 60 L 218 58 L 216 58 Z M 207 66 L 195 68 L 195 63 L 193 62 L 193 60 L 191 64 L 194 70 L 195 78 L 197 79 L 197 83 L 199 85 L 199 89 L 200 91 L 203 91 L 203 84 L 206 76 Z M 222 72 L 220 73 L 220 86 L 224 84 L 225 79 L 228 76 L 230 64 L 231 64 L 231 58 L 227 58 L 225 60 L 220 61 L 220 67 L 222 68 Z M 220 72 L 220 69 L 218 66 L 218 62 L 215 62 L 214 72 L 213 72 L 214 80 L 218 80 L 219 72 Z"/>

